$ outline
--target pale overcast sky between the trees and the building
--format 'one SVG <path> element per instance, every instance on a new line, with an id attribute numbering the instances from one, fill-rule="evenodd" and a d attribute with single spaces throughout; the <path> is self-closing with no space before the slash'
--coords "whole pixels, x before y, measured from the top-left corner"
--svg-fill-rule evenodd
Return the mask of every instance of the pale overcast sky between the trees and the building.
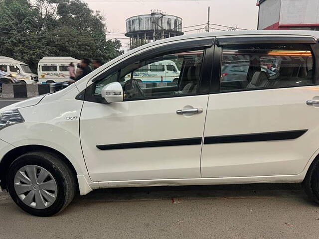
<path id="1" fill-rule="evenodd" d="M 125 20 L 131 16 L 149 14 L 151 9 L 160 9 L 166 14 L 183 19 L 183 27 L 207 22 L 210 6 L 210 22 L 226 26 L 256 29 L 258 7 L 256 0 L 84 0 L 93 10 L 105 16 L 108 31 L 126 32 Z M 203 26 L 204 27 L 204 26 Z M 214 27 L 214 26 L 212 26 Z M 216 28 L 221 28 L 215 26 Z M 189 29 L 196 29 L 187 28 Z M 221 28 L 225 29 L 225 28 Z M 186 29 L 185 29 L 186 30 Z M 196 30 L 189 33 L 201 32 Z M 186 33 L 185 33 L 186 34 Z M 108 38 L 123 38 L 124 35 L 108 35 Z M 126 47 L 128 40 L 121 40 Z"/>

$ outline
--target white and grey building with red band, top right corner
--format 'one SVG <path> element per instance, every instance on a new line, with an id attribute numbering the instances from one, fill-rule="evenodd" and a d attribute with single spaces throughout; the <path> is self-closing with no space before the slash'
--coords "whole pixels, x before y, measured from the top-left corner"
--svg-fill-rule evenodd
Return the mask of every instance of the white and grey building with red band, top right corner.
<path id="1" fill-rule="evenodd" d="M 319 30 L 319 0 L 257 0 L 258 29 Z"/>

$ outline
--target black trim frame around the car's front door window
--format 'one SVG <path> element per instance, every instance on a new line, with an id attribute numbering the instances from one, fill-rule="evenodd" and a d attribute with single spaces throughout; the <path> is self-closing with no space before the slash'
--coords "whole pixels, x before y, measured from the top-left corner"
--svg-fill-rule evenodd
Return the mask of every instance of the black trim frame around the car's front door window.
<path id="1" fill-rule="evenodd" d="M 150 58 L 162 56 L 163 54 L 166 55 L 166 54 L 172 54 L 172 53 L 181 52 L 181 51 L 194 51 L 194 50 L 202 50 L 202 49 L 204 50 L 204 54 L 203 54 L 202 70 L 201 70 L 200 79 L 199 79 L 199 84 L 200 84 L 199 85 L 199 92 L 197 94 L 146 97 L 146 98 L 141 98 L 141 99 L 138 99 L 138 98 L 129 99 L 129 100 L 125 100 L 125 101 L 141 101 L 141 100 L 152 100 L 152 99 L 162 99 L 162 98 L 172 98 L 172 97 L 187 97 L 187 96 L 194 96 L 194 95 L 209 94 L 209 87 L 205 88 L 205 92 L 203 92 L 203 90 L 201 88 L 202 86 L 206 85 L 206 83 L 201 84 L 201 76 L 202 76 L 202 72 L 204 69 L 203 68 L 204 64 L 207 65 L 207 63 L 212 62 L 212 58 L 206 59 L 207 58 L 206 51 L 207 51 L 207 49 L 214 48 L 214 41 L 215 41 L 215 37 L 210 37 L 210 38 L 205 38 L 205 39 L 199 38 L 199 39 L 194 39 L 194 40 L 190 40 L 190 41 L 182 41 L 182 42 L 173 42 L 169 45 L 158 46 L 154 49 L 143 51 L 141 54 L 138 54 L 136 56 L 128 57 L 127 60 L 124 60 L 124 61 L 118 63 L 117 65 L 109 68 L 105 72 L 96 76 L 93 80 L 91 80 L 93 82 L 93 84 L 86 87 L 86 89 L 84 91 L 82 91 L 81 93 L 79 93 L 75 99 L 84 100 L 84 101 L 88 101 L 88 102 L 106 104 L 107 102 L 100 95 L 99 96 L 93 95 L 93 90 L 94 90 L 94 87 L 95 87 L 97 81 L 100 81 L 100 80 L 104 79 L 106 76 L 114 74 L 115 72 L 119 72 L 121 69 L 123 69 L 128 64 L 132 64 L 132 63 L 139 61 L 141 59 L 150 59 Z M 118 77 L 119 77 L 119 74 L 118 74 Z M 208 77 L 209 77 L 208 80 L 210 81 L 211 80 L 210 74 Z"/>

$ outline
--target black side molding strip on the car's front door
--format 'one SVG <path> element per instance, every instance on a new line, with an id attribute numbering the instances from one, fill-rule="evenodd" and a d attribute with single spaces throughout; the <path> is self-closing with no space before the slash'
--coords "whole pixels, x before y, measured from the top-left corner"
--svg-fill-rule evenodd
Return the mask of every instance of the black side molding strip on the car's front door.
<path id="1" fill-rule="evenodd" d="M 96 147 L 101 150 L 110 150 L 110 149 L 127 149 L 127 148 L 182 146 L 182 145 L 196 145 L 196 144 L 201 144 L 201 137 L 135 142 L 135 143 L 105 144 L 105 145 L 96 145 Z"/>

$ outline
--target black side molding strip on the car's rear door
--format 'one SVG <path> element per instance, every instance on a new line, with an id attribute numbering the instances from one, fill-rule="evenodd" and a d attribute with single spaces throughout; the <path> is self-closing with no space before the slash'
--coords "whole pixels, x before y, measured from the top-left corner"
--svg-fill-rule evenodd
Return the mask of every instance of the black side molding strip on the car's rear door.
<path id="1" fill-rule="evenodd" d="M 302 136 L 307 131 L 308 129 L 301 129 L 301 130 L 280 131 L 280 132 L 210 136 L 210 137 L 204 138 L 204 144 L 240 143 L 240 142 L 258 142 L 258 141 L 296 139 Z"/>

